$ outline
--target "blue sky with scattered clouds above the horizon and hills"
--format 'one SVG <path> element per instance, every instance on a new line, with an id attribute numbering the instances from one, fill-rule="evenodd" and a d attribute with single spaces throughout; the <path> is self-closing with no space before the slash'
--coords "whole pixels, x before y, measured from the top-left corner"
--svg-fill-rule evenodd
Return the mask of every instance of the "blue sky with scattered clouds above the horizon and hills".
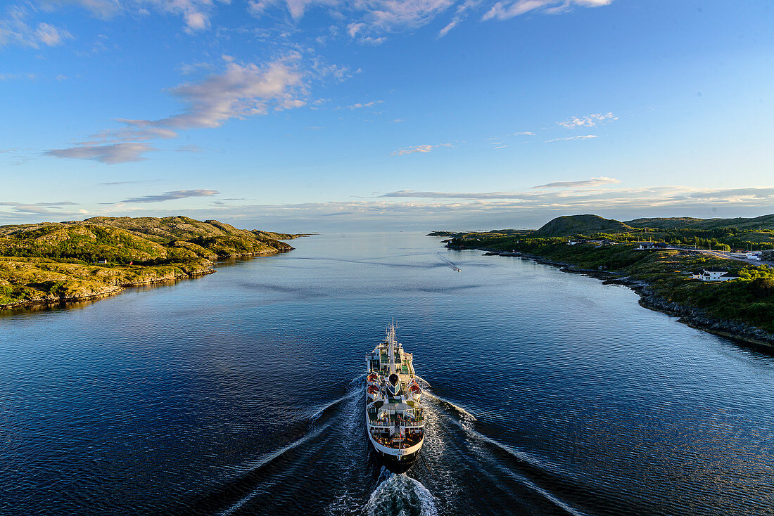
<path id="1" fill-rule="evenodd" d="M 774 2 L 0 8 L 0 224 L 774 212 Z"/>

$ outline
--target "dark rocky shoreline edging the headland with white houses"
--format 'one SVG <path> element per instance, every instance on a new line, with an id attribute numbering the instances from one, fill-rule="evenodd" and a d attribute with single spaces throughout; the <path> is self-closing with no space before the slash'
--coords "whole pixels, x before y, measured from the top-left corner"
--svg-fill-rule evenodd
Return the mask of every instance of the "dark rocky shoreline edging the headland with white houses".
<path id="1" fill-rule="evenodd" d="M 548 258 L 543 258 L 542 256 L 529 255 L 528 253 L 497 251 L 496 249 L 491 248 L 477 249 L 478 251 L 486 251 L 485 255 L 487 256 L 519 256 L 534 260 L 539 264 L 553 265 L 554 267 L 560 268 L 563 272 L 593 276 L 594 278 L 603 280 L 605 283 L 624 285 L 639 295 L 639 304 L 641 306 L 656 310 L 657 312 L 666 313 L 670 316 L 680 317 L 681 323 L 687 324 L 692 328 L 704 330 L 708 333 L 714 333 L 721 337 L 728 337 L 743 343 L 754 344 L 766 348 L 774 347 L 774 334 L 749 324 L 719 320 L 705 313 L 701 309 L 670 302 L 669 300 L 658 296 L 652 288 L 652 285 L 648 282 L 631 279 L 627 276 L 617 276 L 614 272 L 577 268 L 569 263 L 553 261 Z"/>

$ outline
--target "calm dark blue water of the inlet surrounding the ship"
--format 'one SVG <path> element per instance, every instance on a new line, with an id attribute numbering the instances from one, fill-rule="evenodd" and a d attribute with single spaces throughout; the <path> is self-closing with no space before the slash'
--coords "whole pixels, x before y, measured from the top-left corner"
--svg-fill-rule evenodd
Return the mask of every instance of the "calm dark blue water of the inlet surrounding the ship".
<path id="1" fill-rule="evenodd" d="M 774 514 L 772 354 L 439 240 L 303 238 L 2 314 L 0 512 Z M 406 475 L 361 415 L 392 317 L 437 397 Z"/>

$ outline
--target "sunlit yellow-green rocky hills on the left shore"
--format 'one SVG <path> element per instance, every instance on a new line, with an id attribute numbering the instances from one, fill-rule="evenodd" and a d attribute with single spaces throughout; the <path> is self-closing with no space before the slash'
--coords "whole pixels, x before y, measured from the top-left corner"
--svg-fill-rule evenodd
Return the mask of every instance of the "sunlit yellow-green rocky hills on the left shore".
<path id="1" fill-rule="evenodd" d="M 0 226 L 0 307 L 86 299 L 209 274 L 211 260 L 291 251 L 279 238 L 299 236 L 189 217 Z M 108 263 L 95 263 L 103 260 Z"/>

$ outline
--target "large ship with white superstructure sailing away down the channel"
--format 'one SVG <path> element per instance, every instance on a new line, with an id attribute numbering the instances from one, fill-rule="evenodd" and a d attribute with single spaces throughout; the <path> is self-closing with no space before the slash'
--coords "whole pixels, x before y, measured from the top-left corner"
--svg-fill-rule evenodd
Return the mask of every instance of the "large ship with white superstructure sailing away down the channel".
<path id="1" fill-rule="evenodd" d="M 408 470 L 425 439 L 422 388 L 413 355 L 396 341 L 395 324 L 366 356 L 365 426 L 375 453 L 389 469 Z"/>

